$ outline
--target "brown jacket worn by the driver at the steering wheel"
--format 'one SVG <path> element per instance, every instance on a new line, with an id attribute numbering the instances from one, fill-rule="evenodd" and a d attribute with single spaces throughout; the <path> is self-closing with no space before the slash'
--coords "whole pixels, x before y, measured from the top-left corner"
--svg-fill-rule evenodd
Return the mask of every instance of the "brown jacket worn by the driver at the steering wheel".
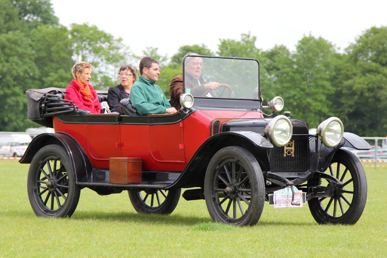
<path id="1" fill-rule="evenodd" d="M 205 93 L 204 84 L 202 76 L 199 78 L 199 83 L 194 79 L 190 74 L 185 73 L 185 88 L 191 89 L 191 94 L 193 96 L 202 96 Z M 183 74 L 180 74 L 172 79 L 170 84 L 170 103 L 171 106 L 179 110 L 182 105 L 180 105 L 180 95 L 183 94 Z"/>

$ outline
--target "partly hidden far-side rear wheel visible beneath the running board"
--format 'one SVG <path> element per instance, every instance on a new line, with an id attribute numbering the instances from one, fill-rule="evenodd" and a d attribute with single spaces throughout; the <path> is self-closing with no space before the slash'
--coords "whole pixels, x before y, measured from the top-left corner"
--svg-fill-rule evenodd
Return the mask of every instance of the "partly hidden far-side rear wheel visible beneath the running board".
<path id="1" fill-rule="evenodd" d="M 149 188 L 143 191 L 128 191 L 134 209 L 139 213 L 171 214 L 180 199 L 182 189 Z"/>

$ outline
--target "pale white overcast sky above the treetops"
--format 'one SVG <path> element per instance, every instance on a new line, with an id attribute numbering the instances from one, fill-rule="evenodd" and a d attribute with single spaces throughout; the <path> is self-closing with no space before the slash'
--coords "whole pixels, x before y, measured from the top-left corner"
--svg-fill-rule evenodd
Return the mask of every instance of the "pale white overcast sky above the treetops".
<path id="1" fill-rule="evenodd" d="M 341 51 L 372 26 L 387 26 L 387 1 L 364 0 L 51 0 L 62 25 L 96 25 L 121 37 L 136 55 L 147 46 L 171 57 L 180 46 L 204 44 L 213 52 L 219 39 L 257 37 L 268 50 L 285 45 L 291 51 L 309 33 Z"/>

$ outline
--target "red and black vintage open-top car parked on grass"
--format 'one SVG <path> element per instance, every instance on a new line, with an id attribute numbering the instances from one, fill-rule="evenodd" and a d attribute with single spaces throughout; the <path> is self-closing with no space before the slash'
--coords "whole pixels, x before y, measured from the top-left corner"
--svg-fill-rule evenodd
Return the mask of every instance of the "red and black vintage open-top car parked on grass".
<path id="1" fill-rule="evenodd" d="M 284 103 L 264 105 L 256 59 L 188 57 L 201 58 L 204 80 L 221 86 L 198 96 L 184 87 L 174 114 L 139 115 L 128 99 L 122 114 L 89 114 L 64 100 L 64 89 L 26 92 L 29 119 L 55 129 L 36 136 L 20 160 L 31 163 L 36 215 L 70 217 L 84 187 L 101 195 L 128 190 L 137 212 L 169 214 L 185 188 L 185 200 L 204 199 L 212 220 L 226 224 L 255 225 L 265 201 L 274 208 L 308 201 L 320 224 L 358 221 L 366 176 L 342 147 L 370 149 L 365 140 L 336 117 L 309 134 L 290 112 L 265 115 L 263 108 L 280 111 Z M 100 102 L 106 95 L 98 91 Z"/>

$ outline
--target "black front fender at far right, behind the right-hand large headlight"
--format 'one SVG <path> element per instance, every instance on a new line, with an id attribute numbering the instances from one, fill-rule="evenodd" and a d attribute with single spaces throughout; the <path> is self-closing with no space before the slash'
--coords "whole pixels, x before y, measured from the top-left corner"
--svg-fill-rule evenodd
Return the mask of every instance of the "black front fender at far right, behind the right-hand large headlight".
<path id="1" fill-rule="evenodd" d="M 351 132 L 344 132 L 341 143 L 336 147 L 329 148 L 322 144 L 320 138 L 317 138 L 318 141 L 318 150 L 319 150 L 319 162 L 316 162 L 316 138 L 311 138 L 309 140 L 310 148 L 310 170 L 311 171 L 320 171 L 323 172 L 327 170 L 330 161 L 332 160 L 334 154 L 337 150 L 342 147 L 350 147 L 356 150 L 370 150 L 371 146 L 368 144 L 365 139 L 360 136 L 353 134 Z"/>

